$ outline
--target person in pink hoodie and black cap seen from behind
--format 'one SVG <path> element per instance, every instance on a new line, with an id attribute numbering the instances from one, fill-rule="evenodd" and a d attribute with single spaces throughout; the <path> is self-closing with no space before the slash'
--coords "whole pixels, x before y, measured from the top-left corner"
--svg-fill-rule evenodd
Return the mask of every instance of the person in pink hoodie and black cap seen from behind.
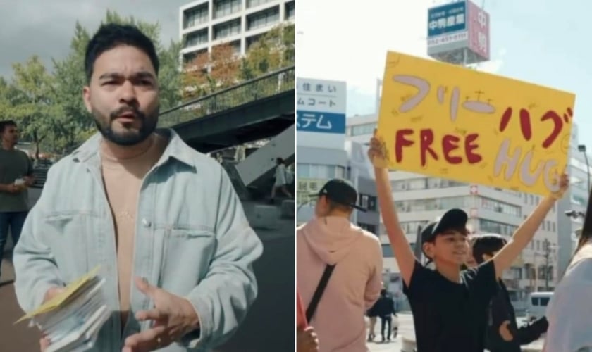
<path id="1" fill-rule="evenodd" d="M 307 319 L 320 352 L 369 351 L 364 313 L 382 289 L 380 241 L 350 222 L 354 208 L 365 211 L 350 182 L 330 180 L 314 196 L 315 218 L 296 229 L 297 286 Z"/>

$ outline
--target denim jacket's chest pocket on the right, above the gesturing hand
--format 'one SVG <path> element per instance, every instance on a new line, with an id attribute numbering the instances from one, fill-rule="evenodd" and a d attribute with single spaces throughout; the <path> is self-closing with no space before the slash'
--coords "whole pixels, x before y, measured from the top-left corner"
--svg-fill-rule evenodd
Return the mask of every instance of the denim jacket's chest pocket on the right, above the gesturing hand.
<path id="1" fill-rule="evenodd" d="M 187 294 L 209 270 L 216 252 L 216 237 L 203 228 L 164 230 L 160 282 L 177 294 Z"/>

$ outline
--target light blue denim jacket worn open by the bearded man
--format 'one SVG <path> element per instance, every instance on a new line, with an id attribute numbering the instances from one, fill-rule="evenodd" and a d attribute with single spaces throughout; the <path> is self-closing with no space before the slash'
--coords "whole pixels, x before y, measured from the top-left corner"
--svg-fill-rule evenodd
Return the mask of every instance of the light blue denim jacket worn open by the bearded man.
<path id="1" fill-rule="evenodd" d="M 159 351 L 208 351 L 235 332 L 257 297 L 252 263 L 263 246 L 221 165 L 173 130 L 161 132 L 170 142 L 142 183 L 132 275 L 188 298 L 199 314 L 199 332 Z M 68 284 L 100 264 L 113 314 L 92 351 L 121 351 L 125 337 L 149 328 L 133 313 L 152 308 L 152 302 L 132 282 L 132 314 L 122 334 L 101 138 L 95 134 L 49 170 L 14 250 L 15 287 L 20 307 L 30 311 L 49 287 Z"/>

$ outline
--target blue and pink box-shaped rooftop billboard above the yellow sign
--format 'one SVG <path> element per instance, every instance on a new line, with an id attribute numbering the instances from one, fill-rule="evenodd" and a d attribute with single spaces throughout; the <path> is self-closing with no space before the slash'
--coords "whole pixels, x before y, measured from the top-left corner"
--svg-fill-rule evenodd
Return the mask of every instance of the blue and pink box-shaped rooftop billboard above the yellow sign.
<path id="1" fill-rule="evenodd" d="M 428 9 L 428 55 L 440 61 L 488 61 L 489 14 L 469 0 Z"/>

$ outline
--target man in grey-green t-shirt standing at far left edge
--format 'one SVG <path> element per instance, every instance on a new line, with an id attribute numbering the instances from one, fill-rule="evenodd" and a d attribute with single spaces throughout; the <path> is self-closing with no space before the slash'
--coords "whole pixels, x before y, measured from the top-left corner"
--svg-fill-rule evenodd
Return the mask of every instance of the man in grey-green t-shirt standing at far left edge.
<path id="1" fill-rule="evenodd" d="M 8 230 L 16 244 L 29 210 L 27 187 L 33 180 L 31 159 L 15 148 L 18 131 L 13 121 L 0 121 L 0 265 Z"/>

